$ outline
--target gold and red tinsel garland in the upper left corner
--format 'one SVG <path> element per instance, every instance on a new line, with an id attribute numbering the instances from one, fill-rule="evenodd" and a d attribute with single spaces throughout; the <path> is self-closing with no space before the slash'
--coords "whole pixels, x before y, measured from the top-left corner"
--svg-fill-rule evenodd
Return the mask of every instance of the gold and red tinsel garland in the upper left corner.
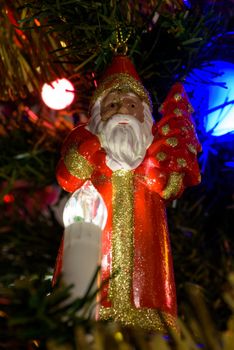
<path id="1" fill-rule="evenodd" d="M 68 66 L 56 64 L 56 54 L 51 54 L 66 44 L 54 34 L 39 30 L 37 19 L 34 19 L 34 27 L 21 30 L 20 23 L 28 10 L 21 11 L 17 17 L 20 1 L 9 4 L 0 1 L 0 5 L 0 99 L 14 101 L 38 96 L 43 83 L 68 75 Z"/>

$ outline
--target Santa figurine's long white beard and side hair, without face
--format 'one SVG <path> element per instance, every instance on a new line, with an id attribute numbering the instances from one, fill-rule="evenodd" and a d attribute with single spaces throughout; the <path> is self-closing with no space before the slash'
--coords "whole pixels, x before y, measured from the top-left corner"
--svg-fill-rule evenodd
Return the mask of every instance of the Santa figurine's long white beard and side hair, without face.
<path id="1" fill-rule="evenodd" d="M 107 153 L 107 166 L 112 171 L 137 168 L 153 141 L 153 119 L 148 106 L 145 105 L 144 108 L 145 118 L 143 123 L 131 115 L 122 114 L 114 115 L 103 122 L 97 109 L 100 111 L 100 106 L 96 106 L 92 110 L 92 118 L 88 129 L 99 136 L 101 145 Z"/>

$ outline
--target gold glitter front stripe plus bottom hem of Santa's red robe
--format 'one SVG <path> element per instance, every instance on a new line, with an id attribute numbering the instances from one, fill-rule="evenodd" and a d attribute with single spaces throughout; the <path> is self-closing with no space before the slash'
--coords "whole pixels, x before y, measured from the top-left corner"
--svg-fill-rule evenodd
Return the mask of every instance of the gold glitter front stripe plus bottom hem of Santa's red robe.
<path id="1" fill-rule="evenodd" d="M 117 170 L 112 174 L 113 232 L 112 274 L 110 285 L 111 307 L 101 306 L 101 320 L 114 320 L 126 326 L 147 330 L 177 329 L 176 318 L 156 309 L 136 308 L 131 302 L 134 256 L 133 172 Z"/>

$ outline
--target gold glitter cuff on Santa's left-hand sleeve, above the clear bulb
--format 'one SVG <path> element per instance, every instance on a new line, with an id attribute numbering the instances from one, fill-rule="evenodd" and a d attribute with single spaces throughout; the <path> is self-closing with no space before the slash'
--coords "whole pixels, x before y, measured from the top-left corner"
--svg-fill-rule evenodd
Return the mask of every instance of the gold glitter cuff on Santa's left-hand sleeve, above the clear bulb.
<path id="1" fill-rule="evenodd" d="M 66 153 L 64 163 L 68 171 L 81 180 L 89 179 L 92 175 L 92 165 L 74 147 Z"/>

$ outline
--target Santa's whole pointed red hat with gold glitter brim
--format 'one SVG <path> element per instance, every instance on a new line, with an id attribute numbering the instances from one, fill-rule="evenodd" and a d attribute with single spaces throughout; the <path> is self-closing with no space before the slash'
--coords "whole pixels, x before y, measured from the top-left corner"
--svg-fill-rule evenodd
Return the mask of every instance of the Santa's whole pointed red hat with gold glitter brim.
<path id="1" fill-rule="evenodd" d="M 149 93 L 128 56 L 117 55 L 113 57 L 94 92 L 91 107 L 97 100 L 101 100 L 112 91 L 132 92 L 152 108 Z"/>

